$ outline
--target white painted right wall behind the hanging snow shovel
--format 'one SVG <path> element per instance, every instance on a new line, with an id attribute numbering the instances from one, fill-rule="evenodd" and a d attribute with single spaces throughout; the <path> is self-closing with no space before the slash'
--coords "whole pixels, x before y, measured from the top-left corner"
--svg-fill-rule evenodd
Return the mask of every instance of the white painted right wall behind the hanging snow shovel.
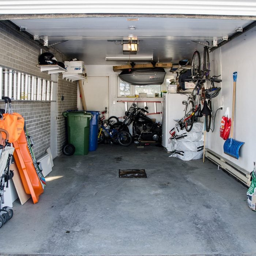
<path id="1" fill-rule="evenodd" d="M 222 78 L 222 95 L 214 99 L 214 110 L 222 104 L 223 110 L 217 112 L 214 132 L 209 132 L 206 135 L 207 148 L 249 172 L 253 169 L 253 161 L 256 161 L 255 42 L 256 30 L 251 29 L 210 54 L 210 59 L 212 64 L 214 64 L 211 66 L 214 66 L 214 72 L 211 74 L 221 74 Z M 245 142 L 240 148 L 239 159 L 232 158 L 223 153 L 225 141 L 219 136 L 222 115 L 227 107 L 230 109 L 230 116 L 232 112 L 233 72 L 235 71 L 237 71 L 238 75 L 233 138 Z M 223 97 L 223 103 L 221 102 L 221 96 Z"/>

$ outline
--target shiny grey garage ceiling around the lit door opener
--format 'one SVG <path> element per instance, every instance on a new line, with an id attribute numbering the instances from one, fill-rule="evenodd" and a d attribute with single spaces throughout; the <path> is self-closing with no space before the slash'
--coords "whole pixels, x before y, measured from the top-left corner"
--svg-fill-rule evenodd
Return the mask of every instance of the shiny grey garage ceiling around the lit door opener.
<path id="1" fill-rule="evenodd" d="M 177 63 L 190 59 L 194 50 L 202 45 L 192 42 L 211 41 L 236 32 L 238 27 L 249 25 L 251 20 L 189 19 L 189 18 L 146 18 L 128 21 L 129 17 L 59 18 L 12 20 L 27 32 L 48 36 L 49 45 L 68 40 L 55 47 L 69 58 L 78 58 L 87 65 L 117 64 L 106 62 L 105 56 L 122 56 L 120 41 L 133 34 L 139 40 L 137 55 L 151 55 L 160 62 Z M 130 30 L 129 26 L 135 26 Z M 119 62 L 120 63 L 120 62 Z"/>

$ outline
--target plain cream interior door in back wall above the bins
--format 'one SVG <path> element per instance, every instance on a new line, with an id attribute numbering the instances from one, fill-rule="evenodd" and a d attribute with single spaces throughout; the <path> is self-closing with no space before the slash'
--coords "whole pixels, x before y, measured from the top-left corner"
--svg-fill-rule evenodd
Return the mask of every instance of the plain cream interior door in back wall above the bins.
<path id="1" fill-rule="evenodd" d="M 109 107 L 108 76 L 88 76 L 87 82 L 84 79 L 83 90 L 87 110 L 102 112 Z"/>

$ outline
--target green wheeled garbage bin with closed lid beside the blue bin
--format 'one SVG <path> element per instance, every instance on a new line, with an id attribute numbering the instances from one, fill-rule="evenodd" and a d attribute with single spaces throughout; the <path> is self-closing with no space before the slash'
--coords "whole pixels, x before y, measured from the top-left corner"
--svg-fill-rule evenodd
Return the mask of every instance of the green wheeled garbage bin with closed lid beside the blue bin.
<path id="1" fill-rule="evenodd" d="M 86 111 L 64 112 L 67 117 L 68 143 L 75 147 L 74 155 L 87 155 L 91 114 Z"/>

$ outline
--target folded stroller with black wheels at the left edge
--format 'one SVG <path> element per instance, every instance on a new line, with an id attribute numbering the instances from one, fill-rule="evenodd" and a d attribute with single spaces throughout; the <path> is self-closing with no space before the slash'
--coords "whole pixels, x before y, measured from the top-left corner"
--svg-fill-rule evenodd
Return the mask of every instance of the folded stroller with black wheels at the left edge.
<path id="1" fill-rule="evenodd" d="M 6 139 L 3 139 L 2 132 L 5 133 Z M 14 162 L 12 157 L 14 147 L 11 146 L 8 139 L 9 133 L 0 128 L 0 227 L 13 216 L 11 207 L 2 207 L 2 204 L 4 204 L 4 188 L 8 188 L 8 181 L 14 175 L 14 172 L 10 170 L 10 165 Z"/>

